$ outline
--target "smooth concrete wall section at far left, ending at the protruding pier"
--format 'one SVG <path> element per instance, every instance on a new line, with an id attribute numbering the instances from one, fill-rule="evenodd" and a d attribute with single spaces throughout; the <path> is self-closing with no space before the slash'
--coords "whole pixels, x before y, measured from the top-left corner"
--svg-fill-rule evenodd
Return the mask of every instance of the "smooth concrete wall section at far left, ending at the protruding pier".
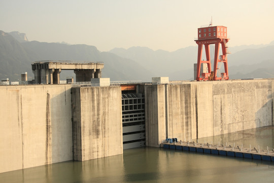
<path id="1" fill-rule="evenodd" d="M 0 173 L 73 159 L 71 85 L 0 86 Z"/>

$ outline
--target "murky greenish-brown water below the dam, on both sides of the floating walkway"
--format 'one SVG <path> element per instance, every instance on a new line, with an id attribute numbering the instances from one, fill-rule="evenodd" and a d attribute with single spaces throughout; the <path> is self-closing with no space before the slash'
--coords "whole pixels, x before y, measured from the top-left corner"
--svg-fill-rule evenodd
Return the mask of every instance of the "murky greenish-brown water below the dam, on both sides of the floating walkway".
<path id="1" fill-rule="evenodd" d="M 274 126 L 198 141 L 272 149 Z M 1 173 L 0 182 L 274 182 L 274 162 L 143 147 L 113 157 Z"/>

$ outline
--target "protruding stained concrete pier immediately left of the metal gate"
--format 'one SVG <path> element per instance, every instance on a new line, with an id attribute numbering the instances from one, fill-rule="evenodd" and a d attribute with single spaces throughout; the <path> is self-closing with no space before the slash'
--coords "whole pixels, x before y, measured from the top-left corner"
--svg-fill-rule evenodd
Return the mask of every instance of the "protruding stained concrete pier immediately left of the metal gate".
<path id="1" fill-rule="evenodd" d="M 72 88 L 74 160 L 123 154 L 120 86 Z"/>

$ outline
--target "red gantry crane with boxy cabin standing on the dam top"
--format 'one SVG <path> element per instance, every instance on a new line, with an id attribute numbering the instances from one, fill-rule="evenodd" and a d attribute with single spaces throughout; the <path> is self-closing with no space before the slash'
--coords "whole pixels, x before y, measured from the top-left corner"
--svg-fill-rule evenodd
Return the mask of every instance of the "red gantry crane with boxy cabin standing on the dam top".
<path id="1" fill-rule="evenodd" d="M 198 39 L 195 42 L 198 44 L 198 62 L 197 62 L 197 75 L 196 80 L 228 80 L 227 68 L 227 27 L 225 26 L 212 26 L 198 28 Z M 211 69 L 210 45 L 215 44 L 214 52 L 214 68 Z M 219 55 L 220 44 L 222 45 L 222 55 Z M 205 56 L 207 60 L 202 60 L 202 47 L 205 48 Z M 201 64 L 208 65 L 208 73 L 200 73 Z M 220 64 L 219 64 L 220 63 Z M 224 65 L 224 73 L 220 73 L 219 69 Z M 218 76 L 217 76 L 218 74 Z M 201 75 L 201 77 L 200 77 Z"/>

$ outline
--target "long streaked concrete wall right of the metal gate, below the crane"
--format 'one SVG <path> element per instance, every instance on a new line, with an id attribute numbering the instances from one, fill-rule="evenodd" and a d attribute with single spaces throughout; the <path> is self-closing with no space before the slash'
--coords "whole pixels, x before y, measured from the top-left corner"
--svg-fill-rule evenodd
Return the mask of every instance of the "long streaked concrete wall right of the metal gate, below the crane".
<path id="1" fill-rule="evenodd" d="M 147 146 L 273 125 L 273 86 L 272 79 L 145 85 Z"/>

